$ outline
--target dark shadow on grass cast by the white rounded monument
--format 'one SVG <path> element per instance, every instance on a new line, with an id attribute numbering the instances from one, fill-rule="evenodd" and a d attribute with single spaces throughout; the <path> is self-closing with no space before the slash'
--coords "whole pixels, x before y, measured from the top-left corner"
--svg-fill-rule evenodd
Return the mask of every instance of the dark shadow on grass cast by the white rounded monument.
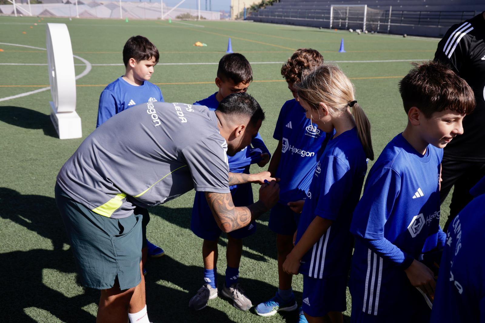
<path id="1" fill-rule="evenodd" d="M 57 138 L 49 114 L 22 107 L 0 106 L 0 121 L 20 128 L 42 129 L 46 136 Z"/>

